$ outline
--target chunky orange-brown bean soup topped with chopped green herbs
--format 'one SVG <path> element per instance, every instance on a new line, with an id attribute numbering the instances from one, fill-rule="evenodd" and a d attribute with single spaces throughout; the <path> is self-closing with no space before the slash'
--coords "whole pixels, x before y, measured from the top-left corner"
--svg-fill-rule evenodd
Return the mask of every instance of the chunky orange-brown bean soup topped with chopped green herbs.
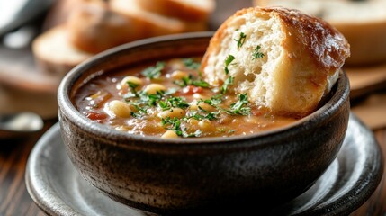
<path id="1" fill-rule="evenodd" d="M 174 58 L 97 76 L 76 93 L 76 108 L 115 130 L 162 138 L 246 135 L 296 121 L 232 92 L 231 76 L 209 85 L 199 62 Z"/>

